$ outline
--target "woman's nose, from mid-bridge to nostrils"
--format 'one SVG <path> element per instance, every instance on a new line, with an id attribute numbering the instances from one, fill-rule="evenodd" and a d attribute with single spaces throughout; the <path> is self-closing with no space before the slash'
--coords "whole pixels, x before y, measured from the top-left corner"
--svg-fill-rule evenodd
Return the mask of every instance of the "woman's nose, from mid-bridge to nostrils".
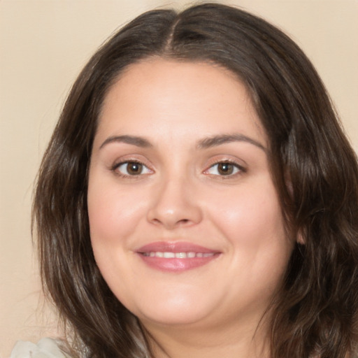
<path id="1" fill-rule="evenodd" d="M 198 224 L 203 213 L 193 193 L 194 188 L 185 180 L 159 184 L 152 193 L 148 221 L 168 230 Z"/>

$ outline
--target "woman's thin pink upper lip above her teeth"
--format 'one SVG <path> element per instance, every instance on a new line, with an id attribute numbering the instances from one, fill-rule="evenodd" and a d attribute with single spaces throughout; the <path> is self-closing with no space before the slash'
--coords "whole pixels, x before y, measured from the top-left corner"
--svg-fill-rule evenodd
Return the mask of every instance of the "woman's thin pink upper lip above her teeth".
<path id="1" fill-rule="evenodd" d="M 204 248 L 203 246 L 196 245 L 185 241 L 157 241 L 155 243 L 148 243 L 136 250 L 138 253 L 144 252 L 203 252 L 203 253 L 216 253 L 217 250 Z"/>

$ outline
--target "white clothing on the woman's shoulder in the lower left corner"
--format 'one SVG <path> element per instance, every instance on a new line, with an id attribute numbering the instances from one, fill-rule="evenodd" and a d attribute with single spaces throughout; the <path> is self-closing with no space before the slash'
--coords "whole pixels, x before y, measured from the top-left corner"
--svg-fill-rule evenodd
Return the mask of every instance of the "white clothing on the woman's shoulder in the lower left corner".
<path id="1" fill-rule="evenodd" d="M 10 358 L 71 358 L 59 348 L 60 341 L 42 338 L 37 344 L 17 341 Z"/>

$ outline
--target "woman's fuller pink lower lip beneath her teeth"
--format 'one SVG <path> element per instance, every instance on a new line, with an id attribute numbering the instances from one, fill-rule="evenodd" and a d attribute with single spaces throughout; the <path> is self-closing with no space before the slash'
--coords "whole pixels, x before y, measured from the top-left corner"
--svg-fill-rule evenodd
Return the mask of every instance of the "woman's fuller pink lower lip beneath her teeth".
<path id="1" fill-rule="evenodd" d="M 204 266 L 209 262 L 213 261 L 219 257 L 219 253 L 210 256 L 210 257 L 194 257 L 194 258 L 186 258 L 186 259 L 165 259 L 163 257 L 150 257 L 138 254 L 139 257 L 147 264 L 148 266 L 155 268 L 159 271 L 169 271 L 180 273 L 183 271 L 192 270 L 193 268 L 197 268 L 200 266 Z"/>

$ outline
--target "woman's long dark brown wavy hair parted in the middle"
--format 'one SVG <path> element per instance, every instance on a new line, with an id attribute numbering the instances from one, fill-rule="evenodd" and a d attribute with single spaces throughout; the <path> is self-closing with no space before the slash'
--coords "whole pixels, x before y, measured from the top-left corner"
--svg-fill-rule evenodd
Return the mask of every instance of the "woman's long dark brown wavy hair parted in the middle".
<path id="1" fill-rule="evenodd" d="M 274 297 L 272 358 L 351 357 L 357 342 L 358 167 L 306 55 L 265 20 L 205 3 L 152 10 L 114 34 L 74 83 L 41 164 L 33 225 L 45 292 L 85 357 L 150 357 L 141 324 L 94 261 L 87 215 L 92 143 L 103 99 L 129 64 L 159 57 L 236 73 L 269 138 L 287 231 L 296 236 Z"/>

